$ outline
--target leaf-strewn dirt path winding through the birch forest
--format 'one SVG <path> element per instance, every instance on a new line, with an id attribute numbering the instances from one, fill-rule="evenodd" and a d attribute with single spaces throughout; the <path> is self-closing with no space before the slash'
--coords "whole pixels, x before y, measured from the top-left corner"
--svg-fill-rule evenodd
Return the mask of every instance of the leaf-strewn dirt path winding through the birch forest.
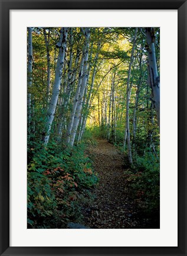
<path id="1" fill-rule="evenodd" d="M 105 139 L 97 139 L 90 148 L 99 184 L 95 199 L 84 209 L 84 222 L 90 228 L 138 228 L 136 204 L 128 197 L 124 159 L 117 148 Z"/>

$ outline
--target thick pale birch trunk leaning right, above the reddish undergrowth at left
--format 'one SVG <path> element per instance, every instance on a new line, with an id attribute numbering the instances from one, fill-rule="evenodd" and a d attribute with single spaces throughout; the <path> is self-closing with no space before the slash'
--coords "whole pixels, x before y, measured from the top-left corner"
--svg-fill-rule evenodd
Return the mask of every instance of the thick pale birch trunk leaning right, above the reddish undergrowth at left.
<path id="1" fill-rule="evenodd" d="M 47 123 L 46 123 L 47 133 L 42 138 L 44 145 L 47 145 L 48 140 L 50 138 L 51 125 L 53 123 L 54 113 L 57 107 L 58 94 L 60 92 L 60 83 L 61 83 L 61 77 L 63 73 L 65 50 L 66 50 L 66 44 L 67 44 L 67 33 L 68 33 L 68 28 L 61 28 L 60 41 L 58 41 L 56 45 L 59 48 L 59 52 L 58 52 L 57 67 L 55 71 L 53 92 L 51 95 L 50 105 L 47 111 Z"/>

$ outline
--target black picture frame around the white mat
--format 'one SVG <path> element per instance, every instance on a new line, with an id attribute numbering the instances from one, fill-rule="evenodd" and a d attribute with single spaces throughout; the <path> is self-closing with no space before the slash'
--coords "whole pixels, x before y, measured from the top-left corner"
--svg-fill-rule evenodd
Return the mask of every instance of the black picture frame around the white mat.
<path id="1" fill-rule="evenodd" d="M 45 2 L 45 4 L 44 4 Z M 1 4 L 1 255 L 187 255 L 186 254 L 186 73 L 187 2 L 183 0 L 0 0 Z M 9 247 L 9 10 L 178 9 L 178 247 Z M 169 25 L 169 24 L 168 24 Z M 170 40 L 170 39 L 168 39 Z M 170 41 L 170 43 L 172 43 Z M 169 87 L 169 85 L 166 85 Z M 172 103 L 170 103 L 172 104 Z M 169 129 L 169 127 L 168 127 Z M 167 153 L 167 152 L 166 152 Z M 168 170 L 169 172 L 169 170 Z M 172 225 L 172 223 L 171 223 Z"/>

